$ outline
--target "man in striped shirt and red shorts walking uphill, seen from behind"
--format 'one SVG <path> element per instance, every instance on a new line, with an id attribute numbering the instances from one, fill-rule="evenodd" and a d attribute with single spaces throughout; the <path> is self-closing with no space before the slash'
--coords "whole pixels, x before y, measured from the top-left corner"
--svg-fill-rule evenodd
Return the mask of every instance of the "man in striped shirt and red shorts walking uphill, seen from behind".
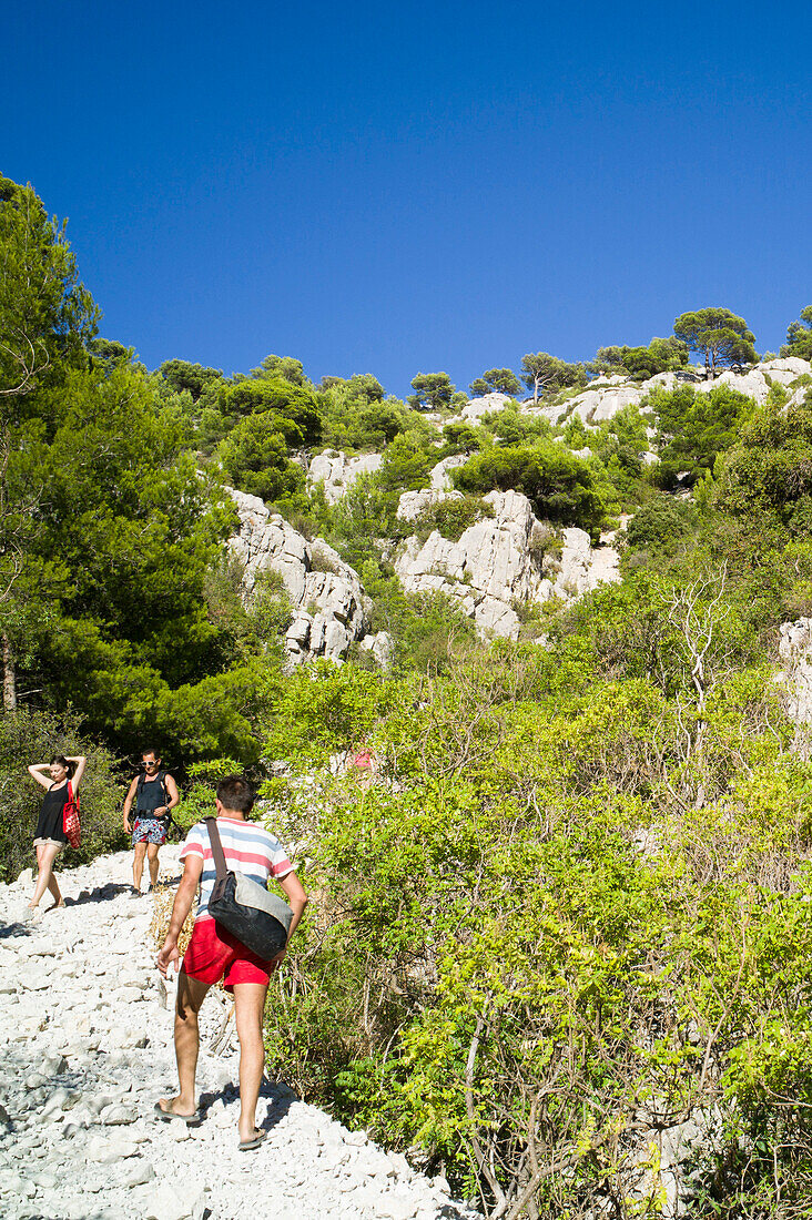
<path id="1" fill-rule="evenodd" d="M 253 805 L 254 792 L 242 776 L 230 776 L 217 784 L 216 825 L 226 867 L 242 872 L 263 887 L 269 877 L 280 882 L 293 911 L 289 942 L 306 906 L 308 895 L 278 839 L 256 822 L 248 821 Z M 176 1120 L 187 1126 L 199 1126 L 200 1114 L 194 1088 L 200 1044 L 198 1013 L 211 985 L 222 980 L 226 991 L 234 997 L 239 1038 L 238 1147 L 241 1152 L 248 1152 L 259 1148 L 267 1135 L 256 1130 L 256 1102 L 265 1066 L 263 1014 L 270 976 L 286 950 L 282 949 L 270 961 L 264 961 L 209 914 L 216 867 L 205 822 L 198 822 L 187 834 L 181 860 L 184 865 L 183 877 L 175 897 L 166 939 L 158 954 L 158 969 L 164 977 L 170 965 L 179 961 L 178 937 L 192 909 L 198 883 L 200 899 L 177 985 L 175 1054 L 181 1091 L 177 1097 L 161 1098 L 155 1105 L 155 1113 L 167 1122 Z"/>

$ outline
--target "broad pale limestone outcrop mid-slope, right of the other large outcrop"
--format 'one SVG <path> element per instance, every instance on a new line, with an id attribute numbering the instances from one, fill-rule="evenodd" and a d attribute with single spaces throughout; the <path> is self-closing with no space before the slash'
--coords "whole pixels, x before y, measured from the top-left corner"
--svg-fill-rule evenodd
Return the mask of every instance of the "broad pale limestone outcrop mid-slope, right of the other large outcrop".
<path id="1" fill-rule="evenodd" d="M 442 499 L 438 492 L 405 493 L 415 495 L 431 495 L 431 503 Z M 523 605 L 552 597 L 571 600 L 602 581 L 618 580 L 617 553 L 609 555 L 609 547 L 593 550 L 582 529 L 557 534 L 536 520 L 519 492 L 491 492 L 485 500 L 493 517 L 469 526 L 458 542 L 438 531 L 422 544 L 416 537 L 407 539 L 394 564 L 407 593 L 444 593 L 474 620 L 481 636 L 517 639 Z M 414 499 L 404 505 L 407 518 L 414 505 Z M 596 555 L 601 555 L 598 564 Z"/>

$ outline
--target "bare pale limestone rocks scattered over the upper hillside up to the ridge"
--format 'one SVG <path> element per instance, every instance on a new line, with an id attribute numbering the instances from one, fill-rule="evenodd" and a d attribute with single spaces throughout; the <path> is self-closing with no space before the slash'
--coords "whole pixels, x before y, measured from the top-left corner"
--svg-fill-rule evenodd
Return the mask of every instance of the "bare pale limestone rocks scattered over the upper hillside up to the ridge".
<path id="1" fill-rule="evenodd" d="M 531 399 L 515 404 L 506 394 L 486 394 L 469 399 L 459 410 L 459 420 L 476 425 L 486 417 L 515 409 L 525 420 L 543 418 L 560 427 L 576 420 L 589 432 L 612 421 L 628 407 L 640 407 L 653 390 L 673 390 L 690 384 L 698 394 L 727 386 L 739 394 L 763 404 L 773 386 L 790 389 L 790 403 L 801 401 L 806 386 L 791 389 L 799 378 L 808 377 L 812 366 L 797 357 L 769 360 L 747 372 L 725 371 L 713 381 L 700 368 L 659 373 L 642 382 L 620 376 L 598 377 L 587 389 L 552 404 L 534 404 Z M 426 420 L 447 426 L 448 416 L 427 415 Z M 453 420 L 453 417 L 452 417 Z M 653 425 L 653 420 L 652 420 Z M 653 438 L 656 428 L 648 427 Z M 556 439 L 563 443 L 563 437 Z M 578 458 L 590 458 L 589 447 L 575 450 Z M 641 451 L 643 465 L 656 465 L 657 453 Z M 408 490 L 399 497 L 397 517 L 401 522 L 420 522 L 427 510 L 462 500 L 453 488 L 453 472 L 466 461 L 464 454 L 441 459 L 429 470 L 426 488 Z M 321 487 L 327 504 L 335 505 L 361 476 L 381 470 L 382 454 L 346 454 L 326 450 L 313 458 L 308 478 L 313 488 Z M 232 490 L 239 512 L 239 533 L 232 548 L 244 564 L 243 588 L 250 598 L 256 573 L 277 572 L 287 589 L 293 619 L 285 637 L 289 665 L 317 656 L 343 660 L 352 644 L 358 644 L 381 666 L 392 658 L 392 639 L 387 632 L 370 630 L 370 599 L 361 578 L 338 551 L 321 538 L 313 542 L 293 528 L 282 516 L 269 510 L 258 497 Z M 603 533 L 592 545 L 586 531 L 556 526 L 538 518 L 526 495 L 517 490 L 492 492 L 484 497 L 492 516 L 465 528 L 455 539 L 438 529 L 427 536 L 418 531 L 388 545 L 390 558 L 405 593 L 441 593 L 475 623 L 484 638 L 519 638 L 527 614 L 545 603 L 565 605 L 598 584 L 619 578 L 617 533 Z M 625 523 L 624 518 L 624 523 Z M 386 539 L 382 539 L 386 547 Z"/>

